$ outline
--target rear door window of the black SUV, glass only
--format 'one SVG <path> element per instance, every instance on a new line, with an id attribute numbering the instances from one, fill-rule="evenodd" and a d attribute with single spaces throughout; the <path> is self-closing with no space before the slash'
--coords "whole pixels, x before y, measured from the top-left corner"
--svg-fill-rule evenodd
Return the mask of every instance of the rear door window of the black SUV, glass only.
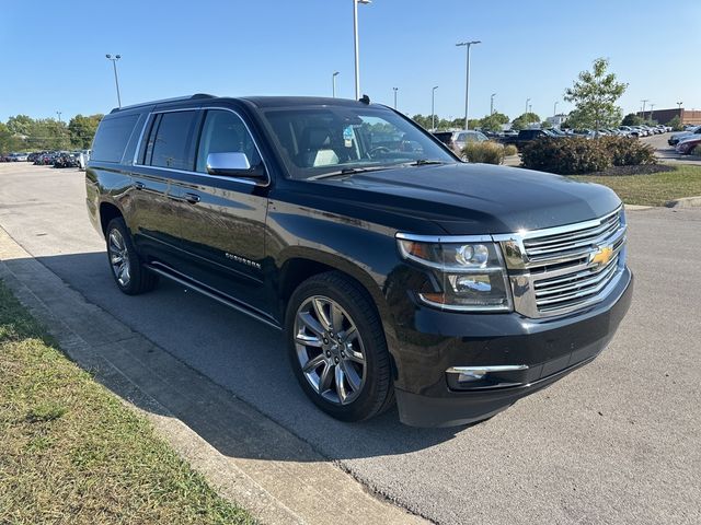
<path id="1" fill-rule="evenodd" d="M 197 112 L 161 114 L 154 122 L 148 145 L 152 166 L 192 171 L 195 163 L 193 135 L 196 117 Z"/>

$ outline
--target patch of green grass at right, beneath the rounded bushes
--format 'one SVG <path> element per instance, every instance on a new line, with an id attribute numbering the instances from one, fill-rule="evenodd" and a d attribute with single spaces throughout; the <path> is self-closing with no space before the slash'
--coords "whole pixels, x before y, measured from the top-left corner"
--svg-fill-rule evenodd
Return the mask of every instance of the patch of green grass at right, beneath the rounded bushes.
<path id="1" fill-rule="evenodd" d="M 676 166 L 652 175 L 573 175 L 576 180 L 608 186 L 628 205 L 664 206 L 681 197 L 701 195 L 701 166 Z"/>

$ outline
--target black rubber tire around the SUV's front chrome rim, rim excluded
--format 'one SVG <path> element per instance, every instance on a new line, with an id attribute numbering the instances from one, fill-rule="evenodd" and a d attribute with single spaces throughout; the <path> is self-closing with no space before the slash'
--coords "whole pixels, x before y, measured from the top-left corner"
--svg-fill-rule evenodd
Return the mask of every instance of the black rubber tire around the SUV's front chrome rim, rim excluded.
<path id="1" fill-rule="evenodd" d="M 348 294 L 348 292 L 350 292 Z M 366 380 L 360 395 L 348 405 L 333 404 L 319 395 L 304 376 L 295 345 L 297 308 L 310 296 L 323 295 L 337 302 L 353 318 L 365 348 Z M 389 352 L 381 323 L 371 300 L 350 279 L 326 273 L 304 281 L 292 293 L 285 315 L 285 339 L 292 371 L 307 396 L 324 412 L 343 421 L 360 421 L 379 413 L 391 389 Z"/>

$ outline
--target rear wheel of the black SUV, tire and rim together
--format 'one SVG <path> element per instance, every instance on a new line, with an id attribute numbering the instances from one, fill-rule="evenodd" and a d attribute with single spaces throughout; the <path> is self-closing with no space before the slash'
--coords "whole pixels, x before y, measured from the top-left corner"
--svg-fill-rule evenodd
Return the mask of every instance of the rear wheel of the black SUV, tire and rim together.
<path id="1" fill-rule="evenodd" d="M 127 295 L 138 295 L 156 288 L 158 276 L 141 262 L 124 219 L 110 221 L 105 231 L 107 262 L 117 288 Z"/>

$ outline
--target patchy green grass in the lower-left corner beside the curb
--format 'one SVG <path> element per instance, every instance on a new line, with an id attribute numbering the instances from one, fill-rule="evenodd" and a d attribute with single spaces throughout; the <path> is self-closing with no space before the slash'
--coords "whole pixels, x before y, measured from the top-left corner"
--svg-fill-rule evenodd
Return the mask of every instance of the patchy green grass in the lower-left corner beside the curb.
<path id="1" fill-rule="evenodd" d="M 0 281 L 0 524 L 250 524 Z"/>

